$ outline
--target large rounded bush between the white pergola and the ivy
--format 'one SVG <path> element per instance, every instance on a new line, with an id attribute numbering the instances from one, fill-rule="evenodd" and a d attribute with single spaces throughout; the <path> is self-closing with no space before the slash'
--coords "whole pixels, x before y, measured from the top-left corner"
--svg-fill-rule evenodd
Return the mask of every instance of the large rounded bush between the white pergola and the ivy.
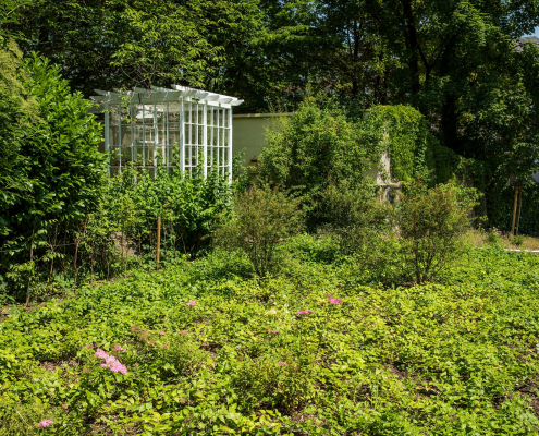
<path id="1" fill-rule="evenodd" d="M 307 97 L 292 117 L 281 117 L 267 132 L 259 175 L 304 195 L 313 229 L 319 223 L 318 207 L 327 187 L 345 180 L 360 183 L 381 152 L 373 159 L 376 154 L 362 142 L 359 124 L 348 120 L 335 101 Z"/>

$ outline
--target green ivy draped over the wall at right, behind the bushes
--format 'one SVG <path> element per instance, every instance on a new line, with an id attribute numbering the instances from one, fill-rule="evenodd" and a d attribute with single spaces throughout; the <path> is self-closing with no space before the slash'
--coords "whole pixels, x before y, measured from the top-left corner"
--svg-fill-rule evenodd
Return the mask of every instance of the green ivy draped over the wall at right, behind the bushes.
<path id="1" fill-rule="evenodd" d="M 419 111 L 407 106 L 378 106 L 366 123 L 372 131 L 383 132 L 381 141 L 388 144 L 394 180 L 420 178 L 433 185 L 457 178 L 485 194 L 477 214 L 487 215 L 490 226 L 511 231 L 514 187 L 487 162 L 463 158 L 442 146 Z M 539 183 L 530 178 L 518 202 L 518 232 L 539 235 Z"/>

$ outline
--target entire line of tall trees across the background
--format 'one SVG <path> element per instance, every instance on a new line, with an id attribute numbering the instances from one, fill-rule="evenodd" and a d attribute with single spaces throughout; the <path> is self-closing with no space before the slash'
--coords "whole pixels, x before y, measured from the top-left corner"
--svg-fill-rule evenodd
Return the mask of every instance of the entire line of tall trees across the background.
<path id="1" fill-rule="evenodd" d="M 539 4 L 418 0 L 9 0 L 2 33 L 73 89 L 200 86 L 244 111 L 305 87 L 417 108 L 457 154 L 526 174 L 537 158 Z"/>

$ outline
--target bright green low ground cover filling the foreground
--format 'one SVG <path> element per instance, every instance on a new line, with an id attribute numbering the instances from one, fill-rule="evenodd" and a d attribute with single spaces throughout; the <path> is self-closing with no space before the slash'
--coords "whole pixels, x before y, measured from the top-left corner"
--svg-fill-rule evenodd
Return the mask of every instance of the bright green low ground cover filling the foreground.
<path id="1" fill-rule="evenodd" d="M 66 435 L 538 432 L 538 256 L 471 250 L 440 284 L 383 289 L 328 240 L 285 249 L 265 281 L 216 251 L 11 310 L 0 434 L 42 419 Z M 98 347 L 127 373 L 102 368 Z"/>

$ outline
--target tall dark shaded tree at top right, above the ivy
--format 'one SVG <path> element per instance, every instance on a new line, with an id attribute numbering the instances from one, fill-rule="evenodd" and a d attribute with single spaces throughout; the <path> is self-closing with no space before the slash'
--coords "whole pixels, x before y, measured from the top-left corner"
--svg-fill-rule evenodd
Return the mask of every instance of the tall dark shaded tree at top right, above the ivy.
<path id="1" fill-rule="evenodd" d="M 537 1 L 326 0 L 318 10 L 341 38 L 330 59 L 345 93 L 412 105 L 456 153 L 505 174 L 532 171 L 539 63 L 519 38 L 539 24 Z"/>

